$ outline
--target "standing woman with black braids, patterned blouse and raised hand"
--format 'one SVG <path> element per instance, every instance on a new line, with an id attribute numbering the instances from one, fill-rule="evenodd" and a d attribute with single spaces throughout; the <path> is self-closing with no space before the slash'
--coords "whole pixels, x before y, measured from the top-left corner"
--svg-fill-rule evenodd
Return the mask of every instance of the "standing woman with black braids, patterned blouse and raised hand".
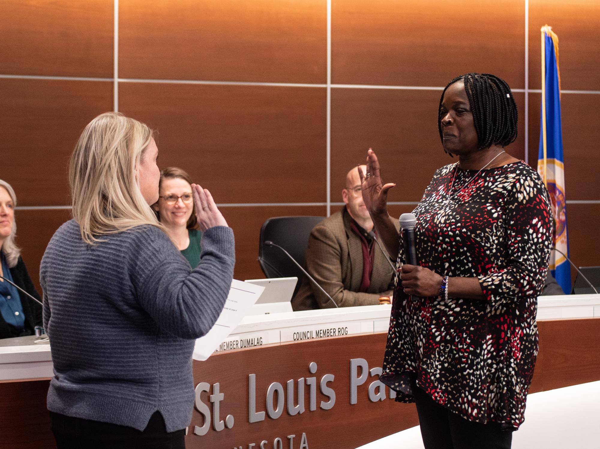
<path id="1" fill-rule="evenodd" d="M 440 98 L 443 150 L 416 216 L 419 265 L 405 262 L 389 189 L 368 151 L 362 195 L 400 277 L 380 380 L 416 402 L 425 448 L 509 448 L 523 422 L 538 353 L 537 297 L 552 245 L 548 192 L 505 151 L 517 138 L 508 84 L 454 78 Z"/>

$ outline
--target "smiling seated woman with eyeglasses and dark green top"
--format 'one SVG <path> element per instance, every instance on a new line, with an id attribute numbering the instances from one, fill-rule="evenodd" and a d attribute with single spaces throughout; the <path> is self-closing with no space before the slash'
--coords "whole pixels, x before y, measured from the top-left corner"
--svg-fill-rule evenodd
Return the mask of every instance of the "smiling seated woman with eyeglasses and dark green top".
<path id="1" fill-rule="evenodd" d="M 191 268 L 200 263 L 200 236 L 191 178 L 184 170 L 169 167 L 160 172 L 158 201 L 152 205 L 158 221 L 177 249 L 190 262 Z"/>

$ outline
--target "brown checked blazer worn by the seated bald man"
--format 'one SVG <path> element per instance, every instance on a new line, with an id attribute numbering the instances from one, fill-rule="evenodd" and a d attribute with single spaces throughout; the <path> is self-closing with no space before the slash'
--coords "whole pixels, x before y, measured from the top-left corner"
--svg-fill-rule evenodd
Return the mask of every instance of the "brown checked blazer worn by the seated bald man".
<path id="1" fill-rule="evenodd" d="M 308 238 L 306 269 L 340 307 L 379 304 L 380 296 L 392 296 L 394 271 L 376 245 L 371 285 L 359 293 L 362 282 L 361 239 L 350 229 L 346 207 L 315 226 Z M 396 223 L 399 230 L 400 225 Z M 293 310 L 335 307 L 308 278 L 292 299 Z"/>

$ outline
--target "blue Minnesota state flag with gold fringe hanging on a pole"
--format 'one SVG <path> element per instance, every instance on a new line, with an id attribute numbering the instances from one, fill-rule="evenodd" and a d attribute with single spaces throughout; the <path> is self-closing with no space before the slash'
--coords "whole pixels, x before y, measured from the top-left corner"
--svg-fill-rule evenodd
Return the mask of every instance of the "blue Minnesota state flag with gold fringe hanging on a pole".
<path id="1" fill-rule="evenodd" d="M 538 172 L 550 192 L 554 215 L 554 246 L 569 254 L 566 227 L 565 165 L 560 123 L 559 38 L 542 26 L 542 126 L 539 134 Z M 552 251 L 550 270 L 566 295 L 571 293 L 571 267 L 565 256 Z"/>

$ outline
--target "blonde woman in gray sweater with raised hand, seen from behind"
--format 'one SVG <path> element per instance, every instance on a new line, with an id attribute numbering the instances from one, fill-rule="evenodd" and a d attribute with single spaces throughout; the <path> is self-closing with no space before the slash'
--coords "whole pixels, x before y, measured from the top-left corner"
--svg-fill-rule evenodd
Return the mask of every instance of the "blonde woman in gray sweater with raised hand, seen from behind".
<path id="1" fill-rule="evenodd" d="M 157 158 L 148 126 L 118 113 L 92 120 L 71 156 L 73 220 L 40 268 L 59 449 L 185 447 L 194 339 L 223 309 L 234 241 L 211 194 L 194 184 L 202 260 L 190 268 L 149 206 Z"/>

